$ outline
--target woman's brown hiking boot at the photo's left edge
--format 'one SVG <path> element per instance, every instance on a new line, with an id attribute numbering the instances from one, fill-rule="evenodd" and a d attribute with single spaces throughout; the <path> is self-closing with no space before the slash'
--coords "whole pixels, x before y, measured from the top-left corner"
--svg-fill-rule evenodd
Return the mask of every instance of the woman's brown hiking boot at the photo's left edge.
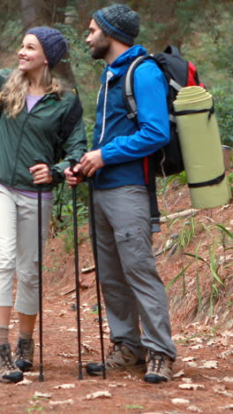
<path id="1" fill-rule="evenodd" d="M 10 343 L 0 345 L 0 382 L 19 382 L 23 372 L 12 362 Z"/>

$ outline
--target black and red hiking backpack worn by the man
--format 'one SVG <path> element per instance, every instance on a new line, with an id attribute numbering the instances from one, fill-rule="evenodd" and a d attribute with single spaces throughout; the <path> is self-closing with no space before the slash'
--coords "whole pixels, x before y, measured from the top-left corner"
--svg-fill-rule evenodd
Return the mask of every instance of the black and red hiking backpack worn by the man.
<path id="1" fill-rule="evenodd" d="M 160 212 L 156 198 L 155 177 L 165 177 L 184 171 L 184 162 L 179 144 L 176 115 L 173 102 L 181 88 L 187 86 L 201 86 L 197 68 L 192 62 L 181 57 L 176 46 L 169 45 L 163 52 L 152 55 L 139 56 L 133 60 L 124 78 L 124 102 L 128 111 L 127 117 L 137 122 L 137 103 L 133 90 L 133 74 L 135 69 L 146 59 L 153 59 L 164 74 L 168 84 L 167 97 L 169 109 L 170 141 L 162 149 L 158 149 L 152 155 L 144 158 L 144 173 L 150 200 L 150 213 L 152 232 L 159 232 Z M 154 108 L 156 111 L 156 108 Z"/>

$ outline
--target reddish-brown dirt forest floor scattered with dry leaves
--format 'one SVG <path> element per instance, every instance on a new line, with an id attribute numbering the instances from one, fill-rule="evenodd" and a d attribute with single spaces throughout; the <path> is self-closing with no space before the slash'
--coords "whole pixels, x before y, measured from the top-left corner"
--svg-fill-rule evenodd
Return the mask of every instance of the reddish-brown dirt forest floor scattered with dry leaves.
<path id="1" fill-rule="evenodd" d="M 159 198 L 161 208 L 164 197 Z M 167 195 L 166 211 L 173 213 L 190 209 L 190 196 L 185 187 L 173 188 Z M 75 278 L 73 251 L 64 251 L 60 238 L 50 238 L 43 272 L 43 375 L 39 381 L 39 326 L 36 325 L 34 371 L 17 385 L 0 385 L 0 412 L 21 414 L 43 413 L 230 413 L 233 412 L 233 280 L 232 249 L 229 239 L 215 244 L 214 257 L 220 266 L 217 275 L 224 282 L 213 280 L 207 265 L 209 246 L 219 240 L 222 224 L 232 232 L 232 202 L 224 207 L 196 211 L 190 217 L 162 224 L 162 232 L 154 234 L 153 249 L 157 269 L 164 285 L 192 262 L 184 277 L 168 289 L 173 339 L 177 346 L 174 380 L 160 385 L 144 382 L 143 369 L 109 372 L 107 379 L 86 374 L 87 362 L 101 358 L 100 334 L 96 315 L 94 271 L 83 272 L 93 265 L 88 228 L 79 231 L 80 323 L 83 380 L 78 380 L 77 313 L 75 311 Z M 190 243 L 177 249 L 163 250 L 171 237 L 194 226 Z M 86 234 L 86 235 L 85 235 Z M 184 237 L 185 239 L 185 237 Z M 224 240 L 223 240 L 224 239 Z M 185 242 L 185 241 L 184 241 Z M 180 249 L 178 249 L 180 248 Z M 228 248 L 228 250 L 227 250 Z M 231 241 L 232 248 L 232 241 Z M 187 257 L 185 252 L 198 251 L 207 263 Z M 199 265 L 197 263 L 199 262 Z M 222 265 L 221 265 L 222 264 Z M 201 290 L 199 303 L 197 283 Z M 214 290 L 214 305 L 211 293 Z M 109 326 L 102 310 L 104 348 L 109 349 Z M 12 348 L 17 341 L 18 318 L 11 318 Z"/>

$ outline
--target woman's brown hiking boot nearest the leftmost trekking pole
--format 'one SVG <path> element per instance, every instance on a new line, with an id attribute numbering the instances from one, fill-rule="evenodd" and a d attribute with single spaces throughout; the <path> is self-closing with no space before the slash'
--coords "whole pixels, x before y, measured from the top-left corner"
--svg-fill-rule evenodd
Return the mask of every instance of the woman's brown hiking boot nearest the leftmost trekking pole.
<path id="1" fill-rule="evenodd" d="M 14 352 L 14 362 L 22 372 L 32 371 L 34 366 L 34 340 L 19 338 Z"/>

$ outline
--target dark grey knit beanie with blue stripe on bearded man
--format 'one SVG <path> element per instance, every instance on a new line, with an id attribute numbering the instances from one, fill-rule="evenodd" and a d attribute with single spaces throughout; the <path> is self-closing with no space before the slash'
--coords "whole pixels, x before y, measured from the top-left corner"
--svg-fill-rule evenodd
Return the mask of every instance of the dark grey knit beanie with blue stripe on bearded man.
<path id="1" fill-rule="evenodd" d="M 132 46 L 139 35 L 139 15 L 125 4 L 113 4 L 95 12 L 94 21 L 110 37 Z"/>

